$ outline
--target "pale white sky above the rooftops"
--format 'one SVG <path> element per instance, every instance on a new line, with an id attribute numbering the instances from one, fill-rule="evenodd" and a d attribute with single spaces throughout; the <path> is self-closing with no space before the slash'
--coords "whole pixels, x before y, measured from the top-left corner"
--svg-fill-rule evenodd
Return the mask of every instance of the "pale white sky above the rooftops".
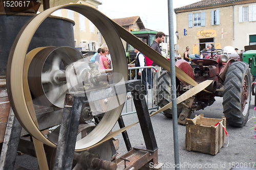
<path id="1" fill-rule="evenodd" d="M 168 1 L 167 0 L 99 0 L 102 5 L 98 10 L 110 17 L 123 18 L 130 16 L 140 16 L 144 26 L 155 31 L 168 32 Z M 188 4 L 199 2 L 200 0 L 176 0 L 173 1 L 173 8 L 183 7 Z M 176 32 L 176 16 L 174 13 L 174 32 Z M 176 43 L 176 38 L 175 38 Z"/>

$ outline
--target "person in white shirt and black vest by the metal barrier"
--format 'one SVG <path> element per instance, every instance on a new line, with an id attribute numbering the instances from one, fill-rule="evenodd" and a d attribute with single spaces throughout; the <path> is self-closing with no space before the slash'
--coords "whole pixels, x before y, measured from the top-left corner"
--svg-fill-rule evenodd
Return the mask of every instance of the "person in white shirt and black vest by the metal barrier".
<path id="1" fill-rule="evenodd" d="M 136 48 L 134 48 L 136 53 L 135 67 L 144 67 L 146 65 L 145 57 Z M 137 80 L 142 80 L 142 90 L 144 95 L 146 95 L 146 69 L 137 69 Z"/>

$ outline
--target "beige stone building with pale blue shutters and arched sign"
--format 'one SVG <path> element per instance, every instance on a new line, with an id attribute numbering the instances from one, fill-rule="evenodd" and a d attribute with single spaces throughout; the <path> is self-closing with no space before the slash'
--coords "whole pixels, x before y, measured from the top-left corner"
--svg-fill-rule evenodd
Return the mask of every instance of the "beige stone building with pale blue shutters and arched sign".
<path id="1" fill-rule="evenodd" d="M 208 43 L 214 48 L 244 50 L 256 44 L 256 0 L 203 0 L 174 9 L 178 52 L 200 54 Z"/>

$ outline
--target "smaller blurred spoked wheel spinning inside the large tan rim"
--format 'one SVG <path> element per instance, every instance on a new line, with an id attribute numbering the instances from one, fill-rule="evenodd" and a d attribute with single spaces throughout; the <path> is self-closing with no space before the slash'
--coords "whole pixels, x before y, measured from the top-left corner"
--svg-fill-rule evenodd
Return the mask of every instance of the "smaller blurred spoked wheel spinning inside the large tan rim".
<path id="1" fill-rule="evenodd" d="M 84 58 L 69 46 L 45 47 L 34 55 L 29 66 L 28 82 L 35 104 L 63 108 L 65 95 L 70 91 L 66 67 L 76 61 L 82 62 Z M 90 70 L 90 67 L 86 63 L 83 69 Z"/>

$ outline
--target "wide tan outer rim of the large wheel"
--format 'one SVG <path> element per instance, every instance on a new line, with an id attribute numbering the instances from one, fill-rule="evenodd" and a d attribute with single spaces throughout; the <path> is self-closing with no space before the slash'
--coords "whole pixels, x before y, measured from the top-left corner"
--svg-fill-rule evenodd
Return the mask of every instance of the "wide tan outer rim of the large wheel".
<path id="1" fill-rule="evenodd" d="M 36 48 L 27 56 L 26 54 L 31 38 L 41 22 L 44 21 L 44 19 L 47 18 L 51 13 L 61 8 L 76 11 L 86 16 L 94 23 L 94 25 L 101 32 L 110 49 L 113 62 L 113 72 L 121 75 L 114 76 L 113 82 L 118 83 L 120 81 L 127 80 L 126 59 L 125 57 L 120 57 L 125 56 L 121 39 L 109 19 L 99 11 L 89 6 L 72 4 L 53 7 L 33 17 L 23 27 L 23 29 L 20 30 L 12 45 L 7 66 L 7 90 L 12 109 L 20 124 L 22 124 L 22 126 L 33 137 L 47 145 L 50 145 L 51 147 L 56 147 L 56 143 L 48 140 L 37 127 L 35 110 L 28 84 L 28 70 L 30 62 L 33 60 L 33 57 L 45 47 Z M 115 107 L 113 110 L 107 111 L 104 114 L 99 125 L 89 135 L 84 137 L 82 141 L 76 144 L 76 150 L 82 150 L 93 146 L 112 130 L 122 111 L 126 95 L 122 95 L 120 97 L 121 98 L 119 98 L 119 100 L 123 102 L 120 102 L 119 106 Z M 110 100 L 109 105 L 117 104 Z"/>

